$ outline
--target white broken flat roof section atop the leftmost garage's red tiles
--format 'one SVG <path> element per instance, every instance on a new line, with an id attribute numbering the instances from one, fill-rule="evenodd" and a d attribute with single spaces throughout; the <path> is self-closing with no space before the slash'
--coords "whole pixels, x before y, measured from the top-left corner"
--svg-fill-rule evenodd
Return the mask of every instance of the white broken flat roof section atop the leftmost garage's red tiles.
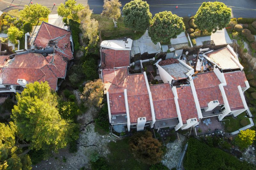
<path id="1" fill-rule="evenodd" d="M 131 50 L 132 39 L 125 40 L 104 40 L 100 43 L 101 47 L 112 49 L 112 50 Z"/>

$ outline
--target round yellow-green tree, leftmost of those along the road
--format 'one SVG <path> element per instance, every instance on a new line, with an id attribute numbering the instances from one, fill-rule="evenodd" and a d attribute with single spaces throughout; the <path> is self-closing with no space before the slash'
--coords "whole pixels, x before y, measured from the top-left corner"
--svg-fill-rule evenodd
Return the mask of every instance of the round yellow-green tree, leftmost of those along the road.
<path id="1" fill-rule="evenodd" d="M 26 18 L 31 24 L 39 23 L 39 18 L 47 18 L 51 11 L 41 4 L 25 5 L 24 9 L 20 12 L 21 18 Z M 36 24 L 36 25 L 37 25 Z"/>

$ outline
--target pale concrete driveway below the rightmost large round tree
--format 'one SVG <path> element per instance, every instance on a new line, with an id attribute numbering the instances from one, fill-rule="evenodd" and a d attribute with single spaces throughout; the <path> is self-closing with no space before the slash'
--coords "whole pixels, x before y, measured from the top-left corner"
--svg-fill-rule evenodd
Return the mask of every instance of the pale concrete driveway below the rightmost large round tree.
<path id="1" fill-rule="evenodd" d="M 196 38 L 196 46 L 202 46 L 204 41 L 210 41 L 210 40 L 213 40 L 215 46 L 232 44 L 232 41 L 228 36 L 227 30 L 226 28 L 224 28 L 222 30 L 218 30 L 217 32 L 213 33 L 211 36 Z"/>

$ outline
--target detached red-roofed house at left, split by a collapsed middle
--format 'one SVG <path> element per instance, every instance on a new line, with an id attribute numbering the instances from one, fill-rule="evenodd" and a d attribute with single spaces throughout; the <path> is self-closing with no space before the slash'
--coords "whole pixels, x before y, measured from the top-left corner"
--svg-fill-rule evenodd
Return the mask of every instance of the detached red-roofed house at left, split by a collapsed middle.
<path id="1" fill-rule="evenodd" d="M 35 81 L 47 81 L 57 91 L 73 59 L 70 36 L 70 31 L 42 22 L 34 50 L 0 56 L 0 93 L 22 92 Z"/>

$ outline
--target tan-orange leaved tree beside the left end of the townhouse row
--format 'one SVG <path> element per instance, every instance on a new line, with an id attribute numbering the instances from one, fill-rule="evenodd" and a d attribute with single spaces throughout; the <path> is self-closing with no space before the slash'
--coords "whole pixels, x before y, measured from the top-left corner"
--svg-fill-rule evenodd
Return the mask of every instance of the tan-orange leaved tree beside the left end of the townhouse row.
<path id="1" fill-rule="evenodd" d="M 102 80 L 87 81 L 82 93 L 83 99 L 86 100 L 86 103 L 89 105 L 94 105 L 100 107 L 103 100 L 103 83 Z"/>

